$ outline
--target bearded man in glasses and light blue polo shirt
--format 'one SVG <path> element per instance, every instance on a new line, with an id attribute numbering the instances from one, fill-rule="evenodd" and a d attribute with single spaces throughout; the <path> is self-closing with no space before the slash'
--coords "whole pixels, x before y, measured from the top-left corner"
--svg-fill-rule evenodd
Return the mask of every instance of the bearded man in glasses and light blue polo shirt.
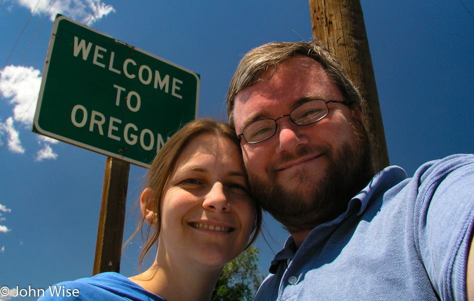
<path id="1" fill-rule="evenodd" d="M 473 294 L 474 155 L 410 179 L 397 166 L 376 174 L 361 102 L 318 41 L 262 45 L 237 67 L 229 122 L 256 199 L 291 235 L 255 300 Z"/>

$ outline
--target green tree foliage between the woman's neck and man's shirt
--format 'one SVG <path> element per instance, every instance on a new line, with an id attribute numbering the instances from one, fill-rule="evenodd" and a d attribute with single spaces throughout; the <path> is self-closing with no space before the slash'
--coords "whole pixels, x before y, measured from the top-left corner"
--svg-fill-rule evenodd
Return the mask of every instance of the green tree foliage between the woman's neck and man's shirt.
<path id="1" fill-rule="evenodd" d="M 259 250 L 250 246 L 224 266 L 212 301 L 251 301 L 264 276 L 257 268 Z"/>

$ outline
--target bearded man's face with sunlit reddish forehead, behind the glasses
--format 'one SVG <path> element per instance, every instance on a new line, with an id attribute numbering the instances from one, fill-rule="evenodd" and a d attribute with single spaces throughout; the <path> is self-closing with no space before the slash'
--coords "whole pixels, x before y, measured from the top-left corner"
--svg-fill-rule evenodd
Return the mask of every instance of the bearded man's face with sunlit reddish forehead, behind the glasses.
<path id="1" fill-rule="evenodd" d="M 263 78 L 270 78 L 273 72 L 268 70 Z M 290 58 L 278 66 L 271 79 L 237 94 L 237 134 L 253 121 L 277 119 L 315 99 L 344 101 L 318 62 L 305 56 Z M 354 181 L 362 176 L 365 182 L 371 172 L 365 170 L 370 169 L 370 156 L 360 112 L 341 103 L 327 106 L 327 116 L 317 123 L 295 126 L 284 117 L 278 120 L 278 131 L 272 138 L 257 144 L 241 141 L 255 196 L 290 231 L 312 229 L 314 223 L 342 213 L 349 201 L 345 198 L 355 185 L 360 186 Z"/>

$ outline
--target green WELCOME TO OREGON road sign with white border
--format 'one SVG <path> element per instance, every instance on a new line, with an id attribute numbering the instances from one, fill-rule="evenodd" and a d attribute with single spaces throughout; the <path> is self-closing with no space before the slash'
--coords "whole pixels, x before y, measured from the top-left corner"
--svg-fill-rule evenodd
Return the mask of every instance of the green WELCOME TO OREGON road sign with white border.
<path id="1" fill-rule="evenodd" d="M 32 131 L 148 167 L 198 96 L 196 73 L 58 15 Z"/>

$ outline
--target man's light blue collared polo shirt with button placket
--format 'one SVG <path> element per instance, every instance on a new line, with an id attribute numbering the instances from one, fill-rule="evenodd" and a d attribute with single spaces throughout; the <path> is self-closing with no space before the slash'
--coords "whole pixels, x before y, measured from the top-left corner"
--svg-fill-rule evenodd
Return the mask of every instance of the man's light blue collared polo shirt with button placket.
<path id="1" fill-rule="evenodd" d="M 255 300 L 466 300 L 474 155 L 376 174 L 294 252 L 289 237 Z"/>

